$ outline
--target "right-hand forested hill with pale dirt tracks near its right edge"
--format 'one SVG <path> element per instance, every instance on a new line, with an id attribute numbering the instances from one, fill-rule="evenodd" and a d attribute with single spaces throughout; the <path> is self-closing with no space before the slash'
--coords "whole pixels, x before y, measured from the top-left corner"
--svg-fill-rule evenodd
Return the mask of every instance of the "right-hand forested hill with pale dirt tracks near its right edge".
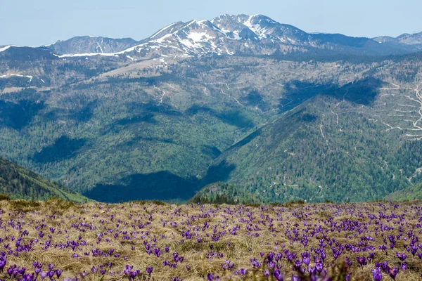
<path id="1" fill-rule="evenodd" d="M 223 152 L 210 169 L 220 167 L 215 179 L 246 190 L 243 202 L 382 199 L 418 181 L 422 166 L 420 115 L 387 106 L 388 89 L 376 79 L 324 89 Z M 402 100 L 400 107 L 420 103 L 418 92 L 415 100 L 402 94 L 411 103 Z M 222 166 L 231 169 L 219 178 Z"/>

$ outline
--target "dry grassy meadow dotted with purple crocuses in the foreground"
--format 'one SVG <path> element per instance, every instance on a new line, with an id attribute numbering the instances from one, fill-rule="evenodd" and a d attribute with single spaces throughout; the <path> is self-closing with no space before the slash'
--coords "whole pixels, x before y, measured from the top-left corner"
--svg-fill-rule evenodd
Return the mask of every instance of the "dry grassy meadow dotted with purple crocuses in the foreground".
<path id="1" fill-rule="evenodd" d="M 4 280 L 420 280 L 422 269 L 418 202 L 0 209 Z"/>

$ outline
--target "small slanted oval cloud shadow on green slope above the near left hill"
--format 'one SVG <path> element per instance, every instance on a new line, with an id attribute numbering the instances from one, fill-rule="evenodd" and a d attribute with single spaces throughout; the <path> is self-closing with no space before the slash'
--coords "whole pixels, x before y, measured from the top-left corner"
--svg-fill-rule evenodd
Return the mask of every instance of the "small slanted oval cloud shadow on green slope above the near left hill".
<path id="1" fill-rule="evenodd" d="M 32 160 L 37 163 L 51 163 L 69 159 L 76 155 L 76 152 L 82 148 L 87 141 L 83 138 L 68 138 L 61 136 L 52 145 L 43 148 L 34 154 Z"/>

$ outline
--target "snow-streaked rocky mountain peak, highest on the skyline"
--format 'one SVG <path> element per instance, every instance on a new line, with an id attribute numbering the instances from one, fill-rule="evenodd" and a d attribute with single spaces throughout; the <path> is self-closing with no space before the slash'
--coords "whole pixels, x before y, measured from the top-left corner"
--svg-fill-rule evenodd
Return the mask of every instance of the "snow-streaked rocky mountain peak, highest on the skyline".
<path id="1" fill-rule="evenodd" d="M 75 37 L 68 41 L 58 42 L 49 48 L 58 53 L 68 54 L 60 55 L 61 58 L 91 55 L 118 56 L 123 53 L 131 53 L 131 58 L 156 58 L 157 55 L 162 54 L 186 56 L 210 53 L 233 55 L 244 51 L 249 53 L 251 46 L 257 51 L 262 50 L 264 45 L 260 44 L 262 40 L 265 40 L 268 41 L 269 46 L 264 47 L 264 53 L 271 53 L 279 48 L 277 44 L 296 44 L 298 41 L 298 38 L 284 34 L 286 30 L 289 33 L 297 29 L 281 25 L 265 15 L 224 14 L 212 20 L 174 22 L 158 30 L 148 39 L 139 42 L 116 44 L 115 41 L 102 37 L 88 37 L 89 39 Z M 84 44 L 80 44 L 81 41 L 84 41 Z M 274 41 L 279 43 L 274 45 Z M 89 51 L 82 51 L 82 48 L 79 48 L 81 45 L 89 47 Z M 122 49 L 122 46 L 126 48 Z M 71 49 L 77 49 L 77 53 L 70 51 Z M 255 52 L 253 49 L 252 53 Z"/>

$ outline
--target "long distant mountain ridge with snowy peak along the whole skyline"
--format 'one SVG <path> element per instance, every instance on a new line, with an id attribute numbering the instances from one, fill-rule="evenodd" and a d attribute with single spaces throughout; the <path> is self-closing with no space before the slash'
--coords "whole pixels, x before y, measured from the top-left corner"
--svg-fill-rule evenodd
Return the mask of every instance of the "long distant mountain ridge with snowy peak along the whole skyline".
<path id="1" fill-rule="evenodd" d="M 417 35 L 403 34 L 397 39 L 370 39 L 343 34 L 307 33 L 261 14 L 224 14 L 212 20 L 173 22 L 140 41 L 132 38 L 80 36 L 41 47 L 51 49 L 59 58 L 93 55 L 156 58 L 160 55 L 189 56 L 210 53 L 271 55 L 277 52 L 305 53 L 312 48 L 385 55 L 421 50 L 419 41 L 409 44 L 413 40 L 411 38 Z"/>

